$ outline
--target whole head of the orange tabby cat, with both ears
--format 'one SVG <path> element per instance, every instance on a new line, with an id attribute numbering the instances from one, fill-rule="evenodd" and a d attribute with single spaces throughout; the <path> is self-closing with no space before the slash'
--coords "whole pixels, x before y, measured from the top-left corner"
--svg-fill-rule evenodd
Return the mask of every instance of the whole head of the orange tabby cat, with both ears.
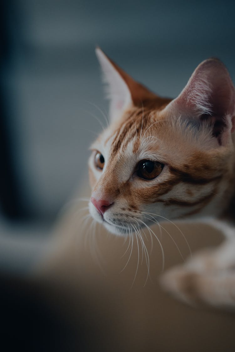
<path id="1" fill-rule="evenodd" d="M 216 215 L 233 173 L 235 89 L 211 58 L 178 98 L 160 98 L 96 50 L 110 125 L 92 144 L 89 210 L 112 233 Z"/>

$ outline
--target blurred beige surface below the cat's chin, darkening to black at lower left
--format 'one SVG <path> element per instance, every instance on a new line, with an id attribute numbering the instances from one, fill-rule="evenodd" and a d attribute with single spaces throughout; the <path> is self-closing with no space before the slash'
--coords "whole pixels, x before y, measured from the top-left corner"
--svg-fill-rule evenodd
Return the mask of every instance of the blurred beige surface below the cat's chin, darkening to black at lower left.
<path id="1" fill-rule="evenodd" d="M 158 283 L 162 253 L 157 241 L 147 279 L 140 243 L 138 249 L 134 241 L 131 253 L 128 239 L 108 234 L 84 218 L 84 203 L 77 201 L 67 209 L 30 276 L 2 277 L 2 336 L 8 350 L 24 346 L 24 351 L 234 351 L 232 313 L 188 307 L 169 297 Z M 153 229 L 167 269 L 181 263 L 189 249 L 174 225 L 163 226 L 172 238 Z M 180 228 L 193 251 L 221 241 L 209 226 Z M 150 253 L 147 233 L 146 237 Z"/>

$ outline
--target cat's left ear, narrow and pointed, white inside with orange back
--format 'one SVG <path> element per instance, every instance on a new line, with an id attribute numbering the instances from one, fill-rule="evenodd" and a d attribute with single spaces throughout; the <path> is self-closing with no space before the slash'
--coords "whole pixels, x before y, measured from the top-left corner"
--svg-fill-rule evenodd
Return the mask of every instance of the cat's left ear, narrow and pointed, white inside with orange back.
<path id="1" fill-rule="evenodd" d="M 116 63 L 108 58 L 100 48 L 95 49 L 106 86 L 106 95 L 110 99 L 110 118 L 121 117 L 124 111 L 138 106 L 146 99 L 155 96 L 147 88 L 136 82 Z"/>

